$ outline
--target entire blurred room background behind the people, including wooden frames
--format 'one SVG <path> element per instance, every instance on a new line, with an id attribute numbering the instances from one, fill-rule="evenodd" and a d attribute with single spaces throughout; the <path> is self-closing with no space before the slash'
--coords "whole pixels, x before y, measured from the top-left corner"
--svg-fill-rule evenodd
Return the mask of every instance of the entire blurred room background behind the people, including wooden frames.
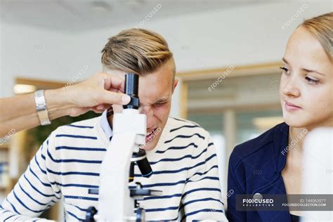
<path id="1" fill-rule="evenodd" d="M 303 19 L 332 11 L 332 1 L 319 0 L 0 2 L 0 97 L 61 86 L 79 72 L 75 81 L 90 77 L 101 70 L 107 38 L 124 29 L 162 34 L 181 80 L 171 116 L 198 122 L 211 133 L 223 192 L 234 146 L 283 121 L 278 67 L 289 35 Z M 27 135 L 13 137 L 0 150 L 1 174 L 9 170 L 17 178 L 25 169 L 20 159 L 30 156 L 18 152 L 34 140 Z M 8 188 L 2 190 L 6 194 Z"/>

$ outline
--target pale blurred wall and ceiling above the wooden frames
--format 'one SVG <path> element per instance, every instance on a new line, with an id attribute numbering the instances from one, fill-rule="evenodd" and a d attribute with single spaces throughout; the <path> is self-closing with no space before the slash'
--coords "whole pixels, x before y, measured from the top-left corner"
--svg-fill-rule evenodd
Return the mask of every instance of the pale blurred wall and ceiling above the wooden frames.
<path id="1" fill-rule="evenodd" d="M 82 79 L 89 77 L 107 38 L 132 27 L 162 34 L 178 72 L 279 61 L 303 18 L 331 10 L 331 1 L 1 0 L 0 96 L 13 95 L 18 76 L 68 81 L 88 65 Z"/>

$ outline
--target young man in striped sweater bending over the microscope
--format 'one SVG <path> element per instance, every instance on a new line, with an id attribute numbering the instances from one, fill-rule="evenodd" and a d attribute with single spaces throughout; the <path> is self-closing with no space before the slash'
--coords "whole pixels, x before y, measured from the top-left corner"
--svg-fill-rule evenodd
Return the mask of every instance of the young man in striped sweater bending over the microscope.
<path id="1" fill-rule="evenodd" d="M 175 79 L 174 58 L 162 36 L 148 30 L 124 30 L 111 37 L 102 51 L 103 71 L 124 79 L 140 75 L 140 111 L 147 115 L 144 149 L 154 174 L 134 181 L 162 190 L 162 197 L 140 202 L 146 219 L 224 221 L 218 166 L 209 133 L 193 122 L 169 117 Z M 112 112 L 53 131 L 41 145 L 14 190 L 1 204 L 1 219 L 36 217 L 64 199 L 65 218 L 83 220 L 86 209 L 98 207 L 100 163 L 112 138 Z M 115 181 L 117 183 L 117 181 Z M 110 206 L 111 207 L 111 206 Z"/>

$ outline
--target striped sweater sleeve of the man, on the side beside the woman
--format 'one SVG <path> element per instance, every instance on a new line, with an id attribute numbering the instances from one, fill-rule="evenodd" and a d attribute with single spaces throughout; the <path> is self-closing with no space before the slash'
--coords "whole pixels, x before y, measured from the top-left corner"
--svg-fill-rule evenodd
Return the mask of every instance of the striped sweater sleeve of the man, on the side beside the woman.
<path id="1" fill-rule="evenodd" d="M 225 216 L 218 178 L 218 161 L 214 143 L 205 131 L 204 139 L 193 149 L 181 200 L 181 221 L 228 221 Z"/>

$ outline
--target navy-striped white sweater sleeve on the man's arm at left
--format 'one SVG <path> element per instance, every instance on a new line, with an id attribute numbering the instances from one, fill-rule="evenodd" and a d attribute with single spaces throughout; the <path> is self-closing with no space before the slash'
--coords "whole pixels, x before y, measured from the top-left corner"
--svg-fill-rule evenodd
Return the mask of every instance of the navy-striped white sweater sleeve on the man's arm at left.
<path id="1" fill-rule="evenodd" d="M 41 145 L 13 190 L 0 207 L 0 221 L 34 221 L 60 200 L 55 178 L 48 174 L 49 138 Z"/>

